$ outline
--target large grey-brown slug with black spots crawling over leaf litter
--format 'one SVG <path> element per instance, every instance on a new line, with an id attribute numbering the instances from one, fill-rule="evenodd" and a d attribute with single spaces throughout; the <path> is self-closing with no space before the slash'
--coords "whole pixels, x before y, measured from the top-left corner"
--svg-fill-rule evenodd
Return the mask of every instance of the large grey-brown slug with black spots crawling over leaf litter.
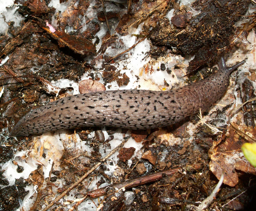
<path id="1" fill-rule="evenodd" d="M 217 73 L 172 91 L 117 90 L 61 98 L 27 113 L 9 136 L 80 126 L 150 129 L 171 125 L 199 108 L 209 108 L 226 91 L 230 73 L 242 64 L 226 67 L 221 58 Z"/>

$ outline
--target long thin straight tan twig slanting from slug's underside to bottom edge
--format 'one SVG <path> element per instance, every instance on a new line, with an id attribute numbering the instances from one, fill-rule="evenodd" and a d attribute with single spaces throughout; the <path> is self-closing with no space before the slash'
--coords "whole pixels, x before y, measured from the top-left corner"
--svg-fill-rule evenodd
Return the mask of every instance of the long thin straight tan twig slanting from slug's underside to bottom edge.
<path id="1" fill-rule="evenodd" d="M 47 209 L 49 209 L 50 207 L 52 207 L 52 205 L 57 202 L 58 200 L 60 200 L 63 196 L 65 196 L 69 191 L 71 191 L 73 188 L 75 188 L 80 182 L 82 182 L 90 173 L 92 173 L 92 171 L 94 171 L 95 169 L 97 169 L 103 162 L 105 162 L 106 159 L 108 159 L 109 156 L 113 155 L 116 150 L 120 149 L 121 147 L 124 146 L 125 142 L 127 142 L 128 138 L 130 136 L 127 136 L 124 138 L 124 141 L 119 144 L 115 149 L 113 149 L 106 157 L 104 157 L 99 163 L 97 163 L 94 167 L 92 167 L 91 170 L 89 170 L 87 173 L 85 173 L 80 179 L 78 179 L 73 185 L 71 185 L 67 190 L 65 190 L 63 193 L 61 193 L 57 198 L 55 198 L 54 200 L 52 200 L 52 202 L 47 205 L 44 209 L 42 209 L 42 211 L 46 211 Z"/>

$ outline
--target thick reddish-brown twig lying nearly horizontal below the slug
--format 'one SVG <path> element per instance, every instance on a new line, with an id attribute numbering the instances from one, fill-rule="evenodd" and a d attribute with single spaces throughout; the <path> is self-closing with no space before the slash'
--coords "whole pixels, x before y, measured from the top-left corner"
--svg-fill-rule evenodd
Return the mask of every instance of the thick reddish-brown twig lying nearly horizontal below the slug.
<path id="1" fill-rule="evenodd" d="M 201 167 L 201 165 L 202 165 L 201 163 L 198 163 L 198 164 L 193 164 L 191 166 L 193 166 L 193 168 L 195 168 L 195 169 L 199 169 Z M 188 166 L 186 166 L 186 167 L 188 167 Z M 102 188 L 99 188 L 99 189 L 96 189 L 96 190 L 88 191 L 85 194 L 87 196 L 92 197 L 92 198 L 97 198 L 97 197 L 100 197 L 100 196 L 103 196 L 103 195 L 107 194 L 107 189 L 108 188 L 120 189 L 120 188 L 124 187 L 124 188 L 128 189 L 128 188 L 144 185 L 146 183 L 154 182 L 158 179 L 161 179 L 165 176 L 170 176 L 170 175 L 172 175 L 174 173 L 177 173 L 181 170 L 182 170 L 182 168 L 180 167 L 180 168 L 175 168 L 175 169 L 166 170 L 166 171 L 159 171 L 155 174 L 143 176 L 143 177 L 140 177 L 140 178 L 132 179 L 130 181 L 126 181 L 126 182 L 122 182 L 122 183 L 118 183 L 118 184 L 113 184 L 113 185 L 105 186 L 105 187 L 102 187 Z"/>

